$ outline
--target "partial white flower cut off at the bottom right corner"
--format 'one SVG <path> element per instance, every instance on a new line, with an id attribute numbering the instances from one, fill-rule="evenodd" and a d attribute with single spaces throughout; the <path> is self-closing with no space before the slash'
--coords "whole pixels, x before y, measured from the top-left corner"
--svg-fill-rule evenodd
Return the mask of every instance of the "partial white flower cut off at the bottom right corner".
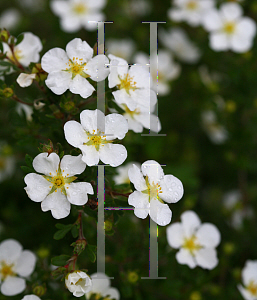
<path id="1" fill-rule="evenodd" d="M 242 271 L 242 281 L 238 289 L 245 300 L 257 299 L 257 260 L 247 260 Z"/>

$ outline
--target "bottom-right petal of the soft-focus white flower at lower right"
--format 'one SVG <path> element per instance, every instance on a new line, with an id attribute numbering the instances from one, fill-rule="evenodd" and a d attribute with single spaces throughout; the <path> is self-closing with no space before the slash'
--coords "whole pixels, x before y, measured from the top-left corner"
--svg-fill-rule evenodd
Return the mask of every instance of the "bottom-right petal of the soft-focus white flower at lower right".
<path id="1" fill-rule="evenodd" d="M 201 268 L 211 270 L 218 264 L 216 250 L 213 248 L 202 248 L 195 252 L 195 260 Z"/>

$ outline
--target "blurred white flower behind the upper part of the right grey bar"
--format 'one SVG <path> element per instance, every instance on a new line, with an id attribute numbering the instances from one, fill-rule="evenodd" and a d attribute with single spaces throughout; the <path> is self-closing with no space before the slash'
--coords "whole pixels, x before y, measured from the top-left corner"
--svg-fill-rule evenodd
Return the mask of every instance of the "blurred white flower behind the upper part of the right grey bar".
<path id="1" fill-rule="evenodd" d="M 149 55 L 139 52 L 134 61 L 141 65 L 149 64 Z M 167 95 L 170 92 L 169 81 L 176 79 L 180 74 L 180 66 L 173 61 L 172 55 L 165 50 L 158 50 L 158 78 L 157 70 L 150 68 L 158 95 Z"/>

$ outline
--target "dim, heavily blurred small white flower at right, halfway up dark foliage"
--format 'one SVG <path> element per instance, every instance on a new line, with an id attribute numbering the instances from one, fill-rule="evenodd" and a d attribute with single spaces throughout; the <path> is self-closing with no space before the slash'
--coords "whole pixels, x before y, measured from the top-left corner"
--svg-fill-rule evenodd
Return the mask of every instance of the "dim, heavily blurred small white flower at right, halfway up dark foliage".
<path id="1" fill-rule="evenodd" d="M 204 130 L 213 143 L 222 144 L 228 139 L 228 132 L 224 126 L 217 122 L 217 117 L 214 111 L 204 111 L 202 113 L 202 123 Z"/>

